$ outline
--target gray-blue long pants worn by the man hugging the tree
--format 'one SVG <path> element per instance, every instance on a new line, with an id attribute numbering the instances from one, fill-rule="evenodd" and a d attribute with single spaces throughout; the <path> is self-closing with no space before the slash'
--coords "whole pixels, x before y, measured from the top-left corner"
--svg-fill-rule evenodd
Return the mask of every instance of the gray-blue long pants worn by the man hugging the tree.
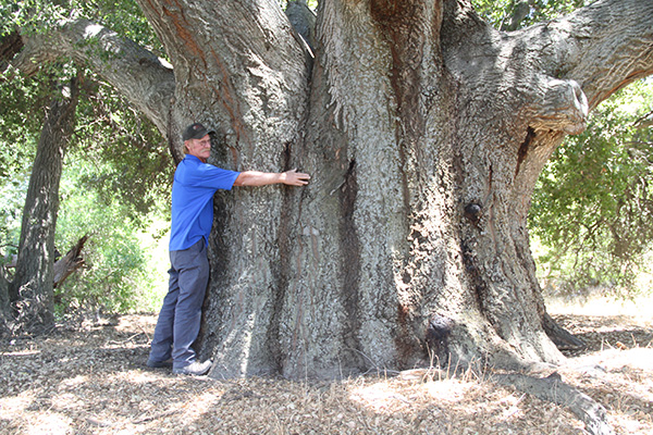
<path id="1" fill-rule="evenodd" d="M 209 282 L 209 260 L 204 239 L 188 249 L 170 251 L 168 295 L 155 328 L 150 361 L 172 358 L 173 369 L 195 361 L 190 347 L 199 334 L 201 306 Z"/>

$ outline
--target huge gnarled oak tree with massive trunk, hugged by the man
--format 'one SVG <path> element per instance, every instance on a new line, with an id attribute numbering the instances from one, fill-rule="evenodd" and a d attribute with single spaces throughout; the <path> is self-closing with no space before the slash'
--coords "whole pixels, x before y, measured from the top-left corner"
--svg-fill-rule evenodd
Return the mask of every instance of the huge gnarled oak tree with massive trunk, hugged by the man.
<path id="1" fill-rule="evenodd" d="M 434 359 L 557 363 L 529 250 L 535 179 L 568 134 L 653 72 L 653 2 L 601 0 L 498 32 L 469 0 L 325 0 L 313 51 L 275 0 L 138 0 L 170 63 L 98 24 L 25 36 L 101 74 L 182 158 L 299 167 L 303 189 L 215 197 L 200 337 L 213 376 L 337 376 Z"/>

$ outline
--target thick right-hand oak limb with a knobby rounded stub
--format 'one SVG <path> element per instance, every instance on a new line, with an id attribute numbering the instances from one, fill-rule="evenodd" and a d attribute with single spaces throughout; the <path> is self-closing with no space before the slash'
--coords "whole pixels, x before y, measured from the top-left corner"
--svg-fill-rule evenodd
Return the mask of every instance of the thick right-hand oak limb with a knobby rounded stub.
<path id="1" fill-rule="evenodd" d="M 483 111 L 512 113 L 515 125 L 578 134 L 591 109 L 653 73 L 650 0 L 600 0 L 509 33 L 482 22 L 468 1 L 445 4 L 445 65 L 470 95 L 502 95 L 503 107 Z"/>

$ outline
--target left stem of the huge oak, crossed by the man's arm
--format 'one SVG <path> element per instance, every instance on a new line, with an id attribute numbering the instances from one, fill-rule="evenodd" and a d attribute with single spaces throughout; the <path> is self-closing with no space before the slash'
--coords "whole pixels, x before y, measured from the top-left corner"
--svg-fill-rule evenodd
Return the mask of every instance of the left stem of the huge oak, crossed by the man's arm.
<path id="1" fill-rule="evenodd" d="M 171 117 L 176 153 L 184 126 L 202 122 L 217 130 L 211 163 L 237 171 L 294 167 L 306 122 L 309 54 L 279 4 L 206 2 L 183 13 L 164 0 L 140 4 L 167 46 L 176 83 L 187 84 L 176 88 Z M 233 32 L 235 23 L 242 32 Z M 202 357 L 217 355 L 215 375 L 279 370 L 276 316 L 300 195 L 268 186 L 215 197 L 212 284 L 200 332 Z"/>

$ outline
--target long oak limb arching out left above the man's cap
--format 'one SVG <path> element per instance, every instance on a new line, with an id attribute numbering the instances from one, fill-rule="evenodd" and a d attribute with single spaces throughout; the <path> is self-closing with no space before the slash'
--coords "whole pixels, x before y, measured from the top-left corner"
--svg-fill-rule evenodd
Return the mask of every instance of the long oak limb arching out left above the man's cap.
<path id="1" fill-rule="evenodd" d="M 114 86 L 167 135 L 174 74 L 153 53 L 87 20 L 67 22 L 45 35 L 23 36 L 23 41 L 12 62 L 23 73 L 71 57 Z"/>

